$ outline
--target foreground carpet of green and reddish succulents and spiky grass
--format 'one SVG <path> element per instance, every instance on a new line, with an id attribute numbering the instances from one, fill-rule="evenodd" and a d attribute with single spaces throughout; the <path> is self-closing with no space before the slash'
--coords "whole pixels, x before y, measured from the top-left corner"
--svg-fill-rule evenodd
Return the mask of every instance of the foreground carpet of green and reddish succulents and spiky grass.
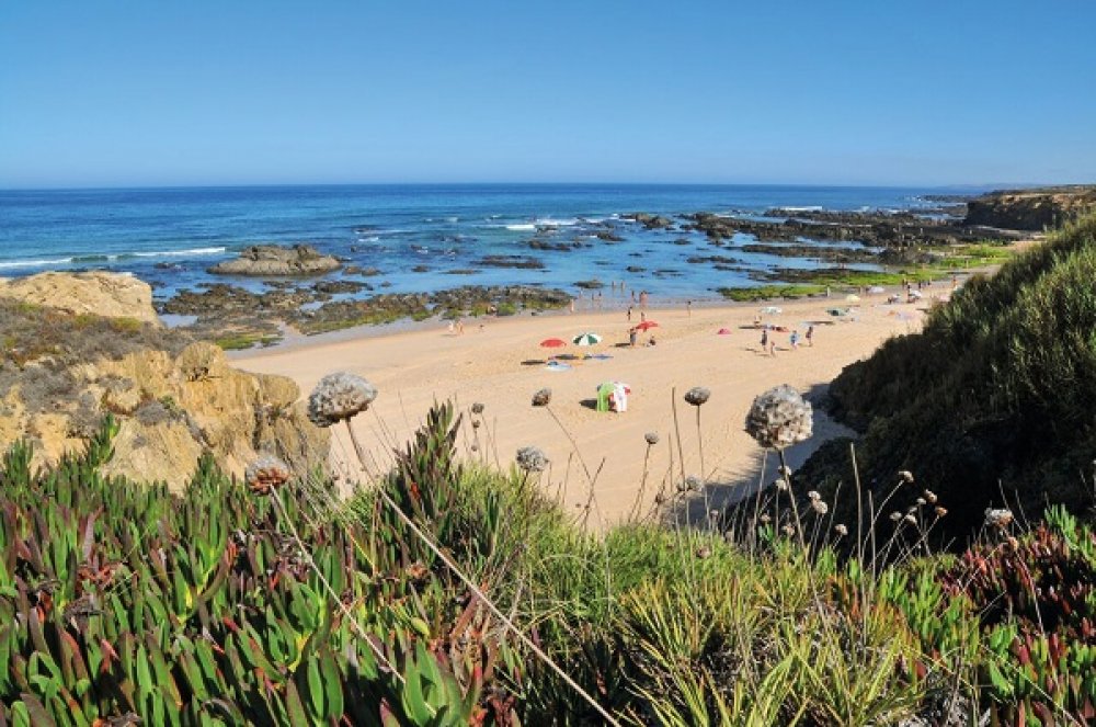
<path id="1" fill-rule="evenodd" d="M 918 514 L 843 558 L 778 493 L 585 533 L 536 475 L 459 464 L 449 406 L 349 501 L 208 461 L 181 497 L 106 478 L 114 427 L 0 463 L 0 723 L 602 724 L 575 686 L 629 725 L 1094 715 L 1096 535 L 1061 509 L 960 557 L 914 557 Z"/>

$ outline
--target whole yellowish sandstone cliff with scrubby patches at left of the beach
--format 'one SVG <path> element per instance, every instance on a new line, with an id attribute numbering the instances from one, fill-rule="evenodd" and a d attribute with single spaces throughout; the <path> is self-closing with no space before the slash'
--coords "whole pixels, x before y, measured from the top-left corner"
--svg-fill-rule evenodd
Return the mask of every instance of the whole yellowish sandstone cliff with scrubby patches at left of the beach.
<path id="1" fill-rule="evenodd" d="M 0 282 L 0 448 L 26 438 L 38 464 L 79 450 L 106 414 L 107 474 L 182 488 L 208 452 L 242 475 L 258 452 L 305 466 L 328 451 L 289 378 L 228 365 L 216 345 L 164 329 L 151 289 L 109 273 Z"/>

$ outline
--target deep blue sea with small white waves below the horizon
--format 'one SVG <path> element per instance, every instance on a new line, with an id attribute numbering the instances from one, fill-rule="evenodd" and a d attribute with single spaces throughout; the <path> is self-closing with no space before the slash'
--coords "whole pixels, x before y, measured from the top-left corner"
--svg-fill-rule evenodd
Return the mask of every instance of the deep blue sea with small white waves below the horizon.
<path id="1" fill-rule="evenodd" d="M 703 235 L 644 230 L 619 216 L 699 211 L 752 216 L 772 207 L 916 209 L 926 205 L 921 196 L 929 192 L 946 190 L 469 184 L 0 191 L 0 276 L 44 270 L 128 272 L 152 283 L 163 298 L 214 281 L 261 286 L 206 270 L 249 245 L 308 242 L 347 264 L 379 269 L 380 275 L 362 279 L 375 286 L 385 283 L 377 292 L 510 283 L 574 291 L 575 282 L 597 277 L 626 280 L 629 287 L 655 296 L 704 298 L 720 286 L 751 284 L 749 274 L 690 264 L 689 257 L 732 255 L 755 270 L 818 263 L 737 251 L 737 245 L 750 241 L 746 236 L 713 249 Z M 624 241 L 595 239 L 606 229 Z M 587 247 L 532 250 L 527 243 L 533 238 Z M 675 242 L 682 238 L 688 243 Z M 478 262 L 500 254 L 530 255 L 545 268 Z M 636 271 L 628 272 L 629 266 Z M 461 270 L 478 272 L 450 272 Z"/>

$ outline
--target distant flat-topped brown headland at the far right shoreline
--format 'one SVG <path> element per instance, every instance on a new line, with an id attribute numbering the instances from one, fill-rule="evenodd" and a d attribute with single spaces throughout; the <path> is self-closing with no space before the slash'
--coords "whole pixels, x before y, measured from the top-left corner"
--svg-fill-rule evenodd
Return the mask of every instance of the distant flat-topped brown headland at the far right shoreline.
<path id="1" fill-rule="evenodd" d="M 1096 211 L 1096 186 L 991 192 L 967 203 L 967 226 L 1042 230 Z"/>

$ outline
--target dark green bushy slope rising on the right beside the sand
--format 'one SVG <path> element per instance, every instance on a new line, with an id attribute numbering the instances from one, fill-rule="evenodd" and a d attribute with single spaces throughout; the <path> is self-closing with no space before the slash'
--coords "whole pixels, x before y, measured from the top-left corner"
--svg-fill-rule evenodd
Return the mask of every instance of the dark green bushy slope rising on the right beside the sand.
<path id="1" fill-rule="evenodd" d="M 920 334 L 888 341 L 833 383 L 836 413 L 865 432 L 866 481 L 917 469 L 952 508 L 956 534 L 991 503 L 1081 511 L 1096 497 L 1096 217 L 1055 232 L 992 277 L 975 276 Z M 849 482 L 847 447 L 812 486 Z M 825 489 L 824 487 L 822 489 Z"/>

